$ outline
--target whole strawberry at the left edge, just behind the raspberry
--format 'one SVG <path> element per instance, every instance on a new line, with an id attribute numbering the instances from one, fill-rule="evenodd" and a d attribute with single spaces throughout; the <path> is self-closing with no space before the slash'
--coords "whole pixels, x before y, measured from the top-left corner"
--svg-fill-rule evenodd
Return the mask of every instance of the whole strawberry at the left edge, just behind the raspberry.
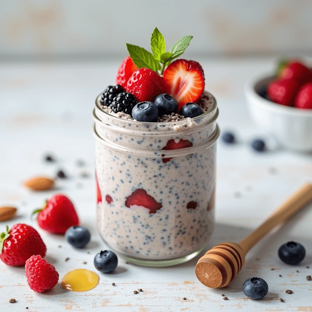
<path id="1" fill-rule="evenodd" d="M 0 259 L 8 266 L 24 266 L 32 255 L 46 255 L 46 245 L 30 225 L 17 223 L 0 234 Z"/>

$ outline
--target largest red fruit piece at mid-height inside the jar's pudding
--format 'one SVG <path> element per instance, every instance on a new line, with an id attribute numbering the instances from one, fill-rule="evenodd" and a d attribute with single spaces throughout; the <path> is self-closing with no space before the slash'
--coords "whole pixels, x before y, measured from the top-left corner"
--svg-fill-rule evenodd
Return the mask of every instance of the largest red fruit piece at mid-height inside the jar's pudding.
<path id="1" fill-rule="evenodd" d="M 149 213 L 156 213 L 163 205 L 156 202 L 155 198 L 150 196 L 144 189 L 138 188 L 126 198 L 124 203 L 126 207 L 130 208 L 133 205 L 143 206 L 149 209 Z"/>

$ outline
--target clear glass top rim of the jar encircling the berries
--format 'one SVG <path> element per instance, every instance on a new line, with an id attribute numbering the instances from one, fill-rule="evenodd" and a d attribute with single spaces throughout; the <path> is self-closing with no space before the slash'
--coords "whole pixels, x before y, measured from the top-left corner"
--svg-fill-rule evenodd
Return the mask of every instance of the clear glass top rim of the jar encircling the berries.
<path id="1" fill-rule="evenodd" d="M 212 108 L 211 108 L 210 110 L 208 110 L 207 112 L 205 112 L 204 114 L 192 118 L 194 121 L 195 121 L 195 120 L 199 120 L 199 119 L 205 119 L 205 117 L 206 117 L 207 115 L 211 114 L 211 113 L 212 113 L 214 110 L 216 110 L 216 108 L 217 108 L 217 100 L 216 100 L 216 98 L 215 98 L 210 92 L 208 92 L 208 91 L 206 91 L 206 90 L 204 90 L 204 92 L 207 92 L 207 93 L 212 97 L 212 99 L 213 99 Z M 102 92 L 102 93 L 103 93 L 103 92 Z M 134 120 L 131 120 L 131 119 L 123 119 L 123 118 L 116 117 L 116 116 L 111 115 L 110 113 L 106 112 L 105 110 L 103 110 L 103 108 L 102 108 L 101 105 L 99 104 L 99 102 L 100 102 L 100 96 L 102 95 L 102 93 L 100 93 L 100 94 L 96 97 L 96 99 L 95 99 L 95 107 L 96 107 L 101 113 L 103 113 L 104 115 L 106 115 L 107 117 L 109 117 L 109 118 L 111 118 L 111 119 L 113 119 L 113 120 L 115 120 L 115 121 L 119 121 L 119 122 L 121 121 L 121 122 L 125 122 L 125 123 L 128 123 L 128 124 L 137 124 L 137 123 L 138 123 L 138 121 L 134 121 Z M 98 116 L 97 116 L 97 117 L 98 117 Z M 213 115 L 212 115 L 212 118 L 213 118 Z M 144 125 L 153 126 L 153 125 L 155 125 L 155 124 L 158 124 L 158 125 L 159 125 L 159 124 L 162 124 L 162 123 L 158 123 L 158 122 L 142 122 L 142 121 L 140 121 L 139 123 L 140 123 L 140 125 L 142 125 L 142 126 L 144 126 Z M 185 120 L 175 121 L 174 123 L 180 125 L 180 124 L 185 123 Z"/>

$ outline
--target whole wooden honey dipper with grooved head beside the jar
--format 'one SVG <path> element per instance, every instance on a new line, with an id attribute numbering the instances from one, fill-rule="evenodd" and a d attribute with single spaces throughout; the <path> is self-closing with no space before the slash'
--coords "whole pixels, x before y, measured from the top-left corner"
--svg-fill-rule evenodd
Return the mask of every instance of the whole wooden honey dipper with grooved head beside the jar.
<path id="1" fill-rule="evenodd" d="M 227 241 L 208 250 L 197 262 L 198 280 L 211 288 L 227 286 L 244 265 L 246 253 L 273 227 L 288 220 L 311 199 L 312 184 L 306 183 L 242 241 L 237 244 Z"/>

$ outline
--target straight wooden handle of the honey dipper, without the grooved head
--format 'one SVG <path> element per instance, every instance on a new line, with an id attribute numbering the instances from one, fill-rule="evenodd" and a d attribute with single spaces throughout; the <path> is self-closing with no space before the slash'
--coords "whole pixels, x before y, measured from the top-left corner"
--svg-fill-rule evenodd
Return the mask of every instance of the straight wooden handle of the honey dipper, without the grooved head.
<path id="1" fill-rule="evenodd" d="M 273 227 L 280 222 L 288 220 L 295 212 L 299 211 L 310 200 L 312 200 L 312 184 L 306 183 L 298 191 L 292 194 L 264 223 L 251 232 L 238 243 L 245 254 Z"/>

